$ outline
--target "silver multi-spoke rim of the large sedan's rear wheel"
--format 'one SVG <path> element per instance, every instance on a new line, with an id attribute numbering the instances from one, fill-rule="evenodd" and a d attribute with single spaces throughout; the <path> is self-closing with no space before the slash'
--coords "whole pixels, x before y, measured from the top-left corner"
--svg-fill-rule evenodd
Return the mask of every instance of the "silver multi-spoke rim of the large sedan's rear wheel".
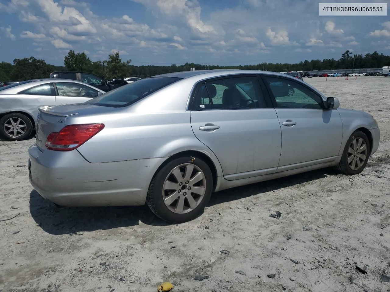
<path id="1" fill-rule="evenodd" d="M 169 172 L 163 185 L 163 200 L 170 211 L 184 214 L 195 209 L 206 193 L 206 178 L 194 164 L 181 164 Z"/>

